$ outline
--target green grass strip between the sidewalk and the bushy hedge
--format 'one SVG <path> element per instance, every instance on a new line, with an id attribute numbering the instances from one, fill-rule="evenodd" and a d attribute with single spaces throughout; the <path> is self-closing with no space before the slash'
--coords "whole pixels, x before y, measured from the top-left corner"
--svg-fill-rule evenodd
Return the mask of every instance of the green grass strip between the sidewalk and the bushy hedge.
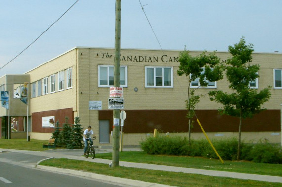
<path id="1" fill-rule="evenodd" d="M 240 173 L 252 173 L 260 175 L 274 175 L 282 177 L 281 164 L 254 163 L 249 161 L 224 161 L 191 156 L 148 155 L 145 152 L 120 152 L 120 161 L 188 167 L 196 169 L 208 169 L 230 171 Z M 112 159 L 112 153 L 96 154 L 96 158 Z"/>

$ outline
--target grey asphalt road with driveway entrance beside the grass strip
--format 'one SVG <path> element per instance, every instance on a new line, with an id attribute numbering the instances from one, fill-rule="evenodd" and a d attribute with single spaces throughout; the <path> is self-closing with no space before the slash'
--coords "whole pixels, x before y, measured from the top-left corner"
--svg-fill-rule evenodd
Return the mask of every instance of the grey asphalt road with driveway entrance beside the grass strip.
<path id="1" fill-rule="evenodd" d="M 74 152 L 81 155 L 80 150 Z M 1 153 L 0 187 L 121 187 L 114 182 L 36 169 L 36 163 L 46 158 L 49 157 L 18 152 Z"/>

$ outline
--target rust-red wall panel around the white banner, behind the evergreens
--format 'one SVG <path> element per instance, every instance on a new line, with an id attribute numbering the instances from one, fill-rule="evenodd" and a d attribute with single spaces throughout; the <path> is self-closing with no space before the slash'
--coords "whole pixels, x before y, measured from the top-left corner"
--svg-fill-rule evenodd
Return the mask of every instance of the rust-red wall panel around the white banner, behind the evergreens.
<path id="1" fill-rule="evenodd" d="M 73 116 L 73 108 L 66 108 L 60 110 L 50 110 L 50 111 L 43 111 L 43 112 L 34 112 L 32 113 L 32 132 L 42 132 L 42 133 L 52 133 L 54 132 L 54 128 L 46 128 L 42 127 L 42 117 L 46 116 L 55 116 L 55 126 L 56 122 L 59 121 L 60 127 L 63 126 L 65 123 L 65 117 L 69 117 L 68 123 L 74 123 L 74 116 Z"/>

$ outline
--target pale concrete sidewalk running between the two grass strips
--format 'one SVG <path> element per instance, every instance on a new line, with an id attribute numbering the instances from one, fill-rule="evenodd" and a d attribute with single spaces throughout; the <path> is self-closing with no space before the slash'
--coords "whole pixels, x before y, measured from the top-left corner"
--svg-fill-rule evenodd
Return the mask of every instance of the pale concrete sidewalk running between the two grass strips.
<path id="1" fill-rule="evenodd" d="M 0 151 L 1 150 L 2 149 L 0 149 Z M 111 149 L 95 149 L 95 150 L 97 150 L 97 152 L 111 152 L 112 151 Z M 82 155 L 81 153 L 83 153 L 82 150 L 77 150 L 77 151 L 74 151 L 74 150 L 48 150 L 44 152 L 25 151 L 25 150 L 8 150 L 8 151 L 21 152 L 21 153 L 37 155 L 37 156 L 47 156 L 50 158 L 51 157 L 68 158 L 68 159 L 104 163 L 104 164 L 110 164 L 112 162 L 112 160 L 106 160 L 106 159 L 99 159 L 99 158 L 92 159 L 90 157 L 85 158 L 81 156 Z M 164 165 L 155 165 L 155 164 L 124 162 L 124 161 L 120 161 L 119 165 L 124 166 L 124 167 L 133 167 L 133 168 L 142 168 L 142 169 L 151 169 L 151 170 L 183 172 L 183 173 L 201 174 L 201 175 L 209 175 L 209 176 L 217 176 L 217 177 L 230 177 L 230 178 L 238 178 L 238 179 L 245 179 L 245 180 L 257 180 L 257 181 L 282 183 L 282 177 L 278 177 L 278 176 L 246 174 L 246 173 L 236 173 L 236 172 L 226 172 L 226 171 L 214 171 L 214 170 L 204 170 L 204 169 L 193 169 L 193 168 L 173 167 L 173 166 L 164 166 Z M 38 164 L 36 167 L 39 169 L 47 169 L 47 170 L 49 168 L 45 166 L 40 166 Z M 51 168 L 51 170 L 53 171 L 54 168 Z M 64 170 L 64 172 L 66 172 L 66 170 Z M 72 170 L 71 171 L 68 170 L 68 172 L 72 172 Z M 77 173 L 77 171 L 75 171 L 75 173 Z M 103 177 L 103 179 L 104 178 L 105 177 Z"/>

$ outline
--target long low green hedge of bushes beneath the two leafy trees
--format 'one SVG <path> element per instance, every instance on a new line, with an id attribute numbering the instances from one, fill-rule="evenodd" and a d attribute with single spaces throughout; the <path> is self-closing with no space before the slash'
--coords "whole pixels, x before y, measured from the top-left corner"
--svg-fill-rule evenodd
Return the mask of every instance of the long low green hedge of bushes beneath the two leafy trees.
<path id="1" fill-rule="evenodd" d="M 212 144 L 223 160 L 237 159 L 236 138 L 216 139 L 212 140 Z M 156 137 L 147 137 L 140 142 L 140 145 L 142 150 L 152 155 L 201 156 L 218 159 L 206 139 L 192 140 L 189 145 L 187 137 L 158 134 Z M 242 143 L 241 159 L 262 163 L 282 163 L 282 148 L 269 143 L 256 145 Z"/>

